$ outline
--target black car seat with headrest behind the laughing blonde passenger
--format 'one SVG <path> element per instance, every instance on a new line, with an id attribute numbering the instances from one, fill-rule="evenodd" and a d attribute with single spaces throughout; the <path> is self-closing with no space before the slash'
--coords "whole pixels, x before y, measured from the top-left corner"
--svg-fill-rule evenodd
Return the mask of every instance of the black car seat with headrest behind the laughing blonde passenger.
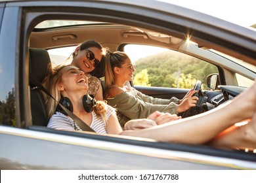
<path id="1" fill-rule="evenodd" d="M 30 48 L 30 74 L 32 73 L 39 82 L 47 76 L 51 59 L 47 50 Z M 45 99 L 40 89 L 30 80 L 30 106 L 32 112 L 32 124 L 47 126 L 48 117 L 45 109 Z"/>

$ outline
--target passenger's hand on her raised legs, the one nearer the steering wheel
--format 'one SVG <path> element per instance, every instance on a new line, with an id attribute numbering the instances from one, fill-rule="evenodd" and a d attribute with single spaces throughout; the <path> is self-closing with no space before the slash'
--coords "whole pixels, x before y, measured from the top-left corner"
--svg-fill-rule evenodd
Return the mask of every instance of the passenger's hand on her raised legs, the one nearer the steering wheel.
<path id="1" fill-rule="evenodd" d="M 179 120 L 181 119 L 181 116 L 177 116 L 176 114 L 169 114 L 167 112 L 156 111 L 150 114 L 150 116 L 148 116 L 148 119 L 154 120 L 157 125 L 161 125 L 175 120 Z"/>

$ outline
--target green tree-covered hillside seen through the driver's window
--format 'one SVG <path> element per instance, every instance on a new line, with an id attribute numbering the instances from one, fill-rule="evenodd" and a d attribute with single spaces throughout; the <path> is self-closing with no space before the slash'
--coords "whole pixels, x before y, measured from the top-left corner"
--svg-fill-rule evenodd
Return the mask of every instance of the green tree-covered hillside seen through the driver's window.
<path id="1" fill-rule="evenodd" d="M 145 73 L 142 74 L 142 71 Z M 192 88 L 196 80 L 205 85 L 206 77 L 211 73 L 218 73 L 215 65 L 170 50 L 136 61 L 135 82 L 139 80 L 140 83 L 158 87 Z"/>

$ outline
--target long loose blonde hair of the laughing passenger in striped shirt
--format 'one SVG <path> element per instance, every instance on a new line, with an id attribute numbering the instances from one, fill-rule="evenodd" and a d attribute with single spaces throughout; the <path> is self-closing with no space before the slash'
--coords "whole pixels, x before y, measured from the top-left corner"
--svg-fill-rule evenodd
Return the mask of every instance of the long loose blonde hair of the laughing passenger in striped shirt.
<path id="1" fill-rule="evenodd" d="M 64 73 L 64 67 L 68 67 L 70 65 L 58 65 L 51 69 L 49 75 L 43 80 L 42 85 L 45 89 L 54 97 L 56 101 L 60 101 L 62 95 L 58 90 L 58 84 L 62 80 L 62 75 Z M 49 97 L 46 93 L 43 92 L 43 96 L 45 97 L 45 105 L 48 114 L 48 118 L 51 118 L 56 111 L 56 107 L 58 106 L 58 102 L 56 102 L 53 98 Z M 96 101 L 96 105 L 93 107 L 93 110 L 98 116 L 101 116 L 105 125 L 107 124 L 108 118 L 106 116 L 107 107 L 105 101 Z"/>

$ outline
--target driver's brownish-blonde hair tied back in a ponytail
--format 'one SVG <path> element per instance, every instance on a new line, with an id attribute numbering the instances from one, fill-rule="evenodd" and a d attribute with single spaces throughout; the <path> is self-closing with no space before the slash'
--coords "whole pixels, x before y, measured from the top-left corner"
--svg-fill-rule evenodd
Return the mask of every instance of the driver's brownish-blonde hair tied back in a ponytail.
<path id="1" fill-rule="evenodd" d="M 129 58 L 125 52 L 110 52 L 106 54 L 105 65 L 105 88 L 108 89 L 115 80 L 114 68 L 121 67 L 125 63 L 125 59 Z"/>

